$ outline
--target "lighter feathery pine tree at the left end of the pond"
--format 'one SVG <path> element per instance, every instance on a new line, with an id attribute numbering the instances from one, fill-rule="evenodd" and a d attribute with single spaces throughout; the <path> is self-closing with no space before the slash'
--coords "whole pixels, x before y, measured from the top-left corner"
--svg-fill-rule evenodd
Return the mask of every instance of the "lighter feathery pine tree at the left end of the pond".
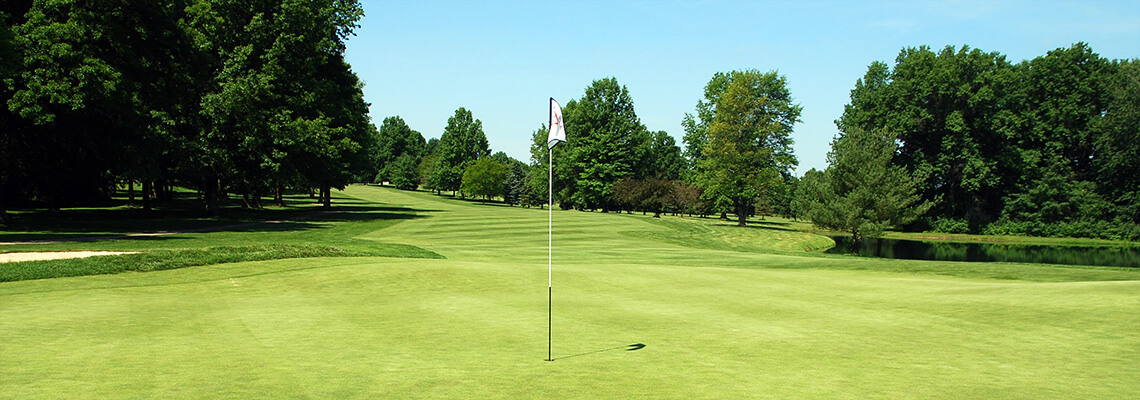
<path id="1" fill-rule="evenodd" d="M 808 171 L 800 181 L 813 225 L 849 232 L 857 246 L 864 237 L 914 221 L 934 205 L 919 195 L 920 179 L 891 165 L 895 140 L 894 134 L 854 128 L 831 142 L 828 169 Z"/>

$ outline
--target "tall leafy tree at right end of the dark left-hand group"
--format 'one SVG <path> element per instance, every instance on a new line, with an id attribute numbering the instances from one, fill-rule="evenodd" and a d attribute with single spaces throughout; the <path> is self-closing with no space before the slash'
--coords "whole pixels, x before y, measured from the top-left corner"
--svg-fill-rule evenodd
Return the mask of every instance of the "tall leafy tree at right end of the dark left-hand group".
<path id="1" fill-rule="evenodd" d="M 376 130 L 343 58 L 357 1 L 198 0 L 187 14 L 195 44 L 212 52 L 193 140 L 207 210 L 226 181 L 317 187 L 328 206 L 333 187 L 368 174 Z"/>

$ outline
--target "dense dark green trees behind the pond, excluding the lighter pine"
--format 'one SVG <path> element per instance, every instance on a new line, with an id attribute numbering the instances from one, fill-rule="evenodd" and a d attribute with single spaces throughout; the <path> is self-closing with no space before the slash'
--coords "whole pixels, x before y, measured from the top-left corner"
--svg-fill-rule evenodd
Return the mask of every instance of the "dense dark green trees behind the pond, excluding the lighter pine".
<path id="1" fill-rule="evenodd" d="M 1124 171 L 1135 170 L 1140 129 L 1127 122 L 1137 108 L 1129 65 L 1085 43 L 1016 65 L 969 47 L 906 48 L 894 67 L 871 64 L 836 123 L 898 132 L 894 163 L 926 177 L 922 198 L 940 199 L 934 221 L 966 221 L 974 232 L 988 223 L 1067 231 L 1121 215 L 1134 223 L 1138 185 Z"/>

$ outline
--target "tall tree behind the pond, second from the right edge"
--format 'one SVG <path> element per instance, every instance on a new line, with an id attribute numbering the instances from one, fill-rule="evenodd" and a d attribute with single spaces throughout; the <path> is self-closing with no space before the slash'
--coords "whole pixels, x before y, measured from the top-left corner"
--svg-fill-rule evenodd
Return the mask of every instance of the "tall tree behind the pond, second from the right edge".
<path id="1" fill-rule="evenodd" d="M 1084 43 L 1017 66 L 1018 163 L 1009 171 L 1002 217 L 1042 223 L 1100 220 L 1096 198 L 1094 124 L 1107 113 L 1112 65 Z"/>

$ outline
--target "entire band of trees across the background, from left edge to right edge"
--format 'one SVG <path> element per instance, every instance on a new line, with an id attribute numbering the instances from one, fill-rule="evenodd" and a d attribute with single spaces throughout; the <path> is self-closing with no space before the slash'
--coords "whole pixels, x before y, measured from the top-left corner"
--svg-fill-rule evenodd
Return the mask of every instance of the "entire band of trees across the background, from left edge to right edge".
<path id="1" fill-rule="evenodd" d="M 528 162 L 492 154 L 458 108 L 439 139 L 377 129 L 344 41 L 355 0 L 13 1 L 0 8 L 0 217 L 138 182 L 206 211 L 239 195 L 352 181 L 545 206 L 546 126 Z M 836 121 L 823 171 L 797 178 L 803 108 L 787 79 L 714 74 L 681 146 L 642 124 L 616 79 L 563 107 L 555 204 L 602 212 L 805 218 L 883 229 L 1140 239 L 1140 66 L 1085 43 L 1010 63 L 969 47 L 874 62 Z"/>

